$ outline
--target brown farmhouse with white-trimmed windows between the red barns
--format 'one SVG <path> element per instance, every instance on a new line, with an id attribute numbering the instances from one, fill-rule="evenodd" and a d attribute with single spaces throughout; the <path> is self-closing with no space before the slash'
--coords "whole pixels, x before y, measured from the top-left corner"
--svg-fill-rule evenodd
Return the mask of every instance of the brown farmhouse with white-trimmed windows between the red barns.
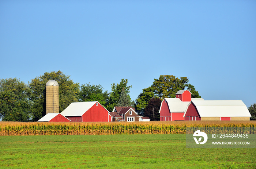
<path id="1" fill-rule="evenodd" d="M 113 112 L 110 112 L 112 116 L 112 122 L 124 121 L 124 122 L 139 122 L 138 113 L 133 107 L 114 107 Z"/>

